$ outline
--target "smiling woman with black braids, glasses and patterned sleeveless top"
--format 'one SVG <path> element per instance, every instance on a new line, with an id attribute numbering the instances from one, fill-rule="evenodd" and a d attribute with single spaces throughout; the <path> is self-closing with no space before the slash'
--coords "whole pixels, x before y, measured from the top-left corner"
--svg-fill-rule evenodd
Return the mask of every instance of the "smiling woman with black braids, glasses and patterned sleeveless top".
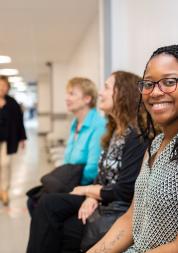
<path id="1" fill-rule="evenodd" d="M 148 114 L 163 133 L 151 143 L 129 211 L 87 253 L 178 252 L 178 45 L 158 48 L 138 84 Z M 104 249 L 104 250 L 103 250 Z"/>

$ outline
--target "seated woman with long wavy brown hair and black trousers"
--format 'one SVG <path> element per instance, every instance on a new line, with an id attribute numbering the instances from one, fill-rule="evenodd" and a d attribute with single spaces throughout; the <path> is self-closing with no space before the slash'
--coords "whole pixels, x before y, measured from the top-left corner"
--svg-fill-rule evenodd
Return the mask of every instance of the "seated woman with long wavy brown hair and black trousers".
<path id="1" fill-rule="evenodd" d="M 40 200 L 32 216 L 28 253 L 78 253 L 87 219 L 99 205 L 117 205 L 118 216 L 129 208 L 148 144 L 137 123 L 138 80 L 124 71 L 107 79 L 99 101 L 108 118 L 99 174 L 94 184 L 75 187 L 70 194 L 48 194 Z M 141 125 L 144 116 L 140 112 Z"/>

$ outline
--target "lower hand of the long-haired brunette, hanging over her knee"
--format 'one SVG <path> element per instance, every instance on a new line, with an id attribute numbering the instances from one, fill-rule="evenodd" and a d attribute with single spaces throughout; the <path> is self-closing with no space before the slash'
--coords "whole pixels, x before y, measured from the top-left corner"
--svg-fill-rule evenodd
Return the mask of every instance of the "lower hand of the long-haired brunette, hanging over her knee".
<path id="1" fill-rule="evenodd" d="M 86 224 L 86 220 L 93 214 L 98 207 L 98 201 L 94 198 L 86 198 L 78 211 L 78 218 Z"/>

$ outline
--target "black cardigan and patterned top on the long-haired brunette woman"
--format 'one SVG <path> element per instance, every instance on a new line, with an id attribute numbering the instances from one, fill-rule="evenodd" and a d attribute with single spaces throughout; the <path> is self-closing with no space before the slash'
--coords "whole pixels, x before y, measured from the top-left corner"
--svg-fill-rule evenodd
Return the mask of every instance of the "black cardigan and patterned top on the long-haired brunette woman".
<path id="1" fill-rule="evenodd" d="M 112 201 L 130 205 L 147 145 L 148 140 L 140 138 L 131 127 L 124 136 L 113 134 L 108 149 L 101 155 L 95 180 L 95 184 L 103 185 L 100 196 L 104 205 Z"/>

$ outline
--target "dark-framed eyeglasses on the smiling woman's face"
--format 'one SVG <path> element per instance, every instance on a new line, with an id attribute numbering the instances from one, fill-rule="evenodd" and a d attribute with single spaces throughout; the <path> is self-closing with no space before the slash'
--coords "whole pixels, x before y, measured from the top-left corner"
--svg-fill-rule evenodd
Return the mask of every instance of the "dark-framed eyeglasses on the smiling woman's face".
<path id="1" fill-rule="evenodd" d="M 138 81 L 138 89 L 141 94 L 147 95 L 154 90 L 155 85 L 157 84 L 162 92 L 169 94 L 176 90 L 177 82 L 178 78 L 163 78 L 157 82 L 150 80 L 141 80 Z"/>

